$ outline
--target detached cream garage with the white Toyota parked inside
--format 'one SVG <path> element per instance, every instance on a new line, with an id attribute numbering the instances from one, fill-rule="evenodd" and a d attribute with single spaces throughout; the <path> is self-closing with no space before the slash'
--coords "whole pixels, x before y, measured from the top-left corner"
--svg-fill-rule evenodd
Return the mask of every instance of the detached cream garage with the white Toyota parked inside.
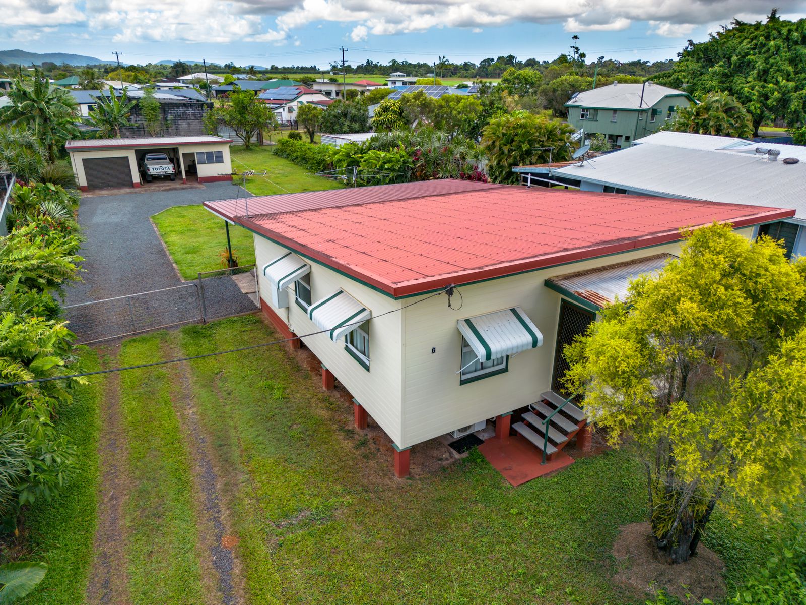
<path id="1" fill-rule="evenodd" d="M 231 181 L 231 143 L 231 139 L 220 136 L 156 136 L 71 140 L 64 148 L 70 154 L 79 188 L 86 191 L 145 184 L 141 166 L 147 153 L 164 153 L 174 167 L 175 178 L 181 178 L 182 183 Z"/>

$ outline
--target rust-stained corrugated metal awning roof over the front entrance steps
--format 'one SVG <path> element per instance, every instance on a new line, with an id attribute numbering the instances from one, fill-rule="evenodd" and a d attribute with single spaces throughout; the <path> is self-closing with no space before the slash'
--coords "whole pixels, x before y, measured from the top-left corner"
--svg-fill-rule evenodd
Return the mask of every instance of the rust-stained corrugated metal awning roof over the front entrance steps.
<path id="1" fill-rule="evenodd" d="M 547 279 L 546 282 L 584 298 L 597 307 L 606 307 L 610 303 L 614 303 L 617 298 L 624 302 L 627 298 L 629 282 L 639 275 L 659 273 L 672 258 L 676 257 L 671 254 L 656 254 L 652 257 L 639 258 L 636 261 L 558 275 Z"/>

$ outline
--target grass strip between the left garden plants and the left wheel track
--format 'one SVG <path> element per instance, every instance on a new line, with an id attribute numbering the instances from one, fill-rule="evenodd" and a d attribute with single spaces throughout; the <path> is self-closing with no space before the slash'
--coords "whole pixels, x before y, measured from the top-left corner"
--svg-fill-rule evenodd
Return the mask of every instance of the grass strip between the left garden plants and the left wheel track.
<path id="1" fill-rule="evenodd" d="M 92 349 L 79 349 L 82 371 L 100 368 Z M 73 392 L 73 401 L 57 411 L 56 428 L 76 448 L 76 469 L 50 502 L 38 500 L 25 514 L 31 549 L 27 560 L 44 561 L 48 573 L 20 603 L 82 603 L 93 561 L 97 524 L 98 433 L 104 379 L 88 378 Z"/>

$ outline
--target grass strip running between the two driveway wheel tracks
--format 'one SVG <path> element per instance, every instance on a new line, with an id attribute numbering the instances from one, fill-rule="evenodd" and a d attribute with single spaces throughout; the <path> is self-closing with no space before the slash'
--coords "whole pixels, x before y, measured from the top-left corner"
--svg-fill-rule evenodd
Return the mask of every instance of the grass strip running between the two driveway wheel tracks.
<path id="1" fill-rule="evenodd" d="M 166 332 L 123 343 L 121 365 L 164 357 Z M 164 367 L 121 376 L 121 409 L 129 451 L 131 494 L 126 508 L 132 603 L 203 603 L 197 561 L 191 459 L 172 407 Z"/>

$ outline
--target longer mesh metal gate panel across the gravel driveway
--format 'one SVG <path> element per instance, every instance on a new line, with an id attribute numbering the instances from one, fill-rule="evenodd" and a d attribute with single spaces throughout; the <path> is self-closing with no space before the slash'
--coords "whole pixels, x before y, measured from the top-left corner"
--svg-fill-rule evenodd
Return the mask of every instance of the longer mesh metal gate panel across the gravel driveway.
<path id="1" fill-rule="evenodd" d="M 69 321 L 68 328 L 77 336 L 77 344 L 134 336 L 204 319 L 197 282 L 62 309 L 64 319 Z"/>

